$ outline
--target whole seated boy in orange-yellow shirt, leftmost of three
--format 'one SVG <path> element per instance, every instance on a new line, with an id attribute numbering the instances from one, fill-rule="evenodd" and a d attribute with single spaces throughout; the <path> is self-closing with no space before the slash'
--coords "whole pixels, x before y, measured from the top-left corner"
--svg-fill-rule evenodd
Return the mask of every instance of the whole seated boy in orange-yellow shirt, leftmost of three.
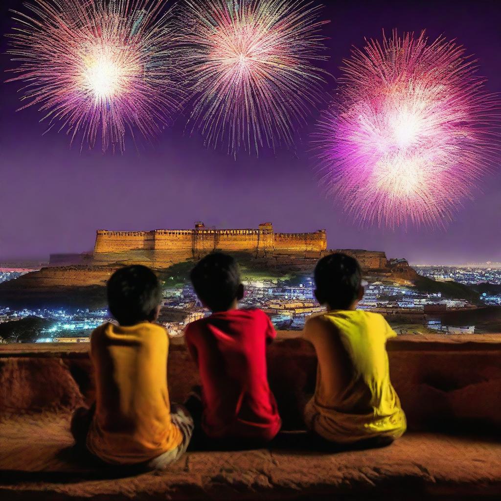
<path id="1" fill-rule="evenodd" d="M 75 412 L 77 445 L 110 464 L 163 469 L 186 451 L 193 421 L 167 390 L 169 339 L 155 324 L 160 283 L 145 266 L 117 270 L 107 284 L 111 314 L 120 324 L 91 336 L 96 403 Z"/>

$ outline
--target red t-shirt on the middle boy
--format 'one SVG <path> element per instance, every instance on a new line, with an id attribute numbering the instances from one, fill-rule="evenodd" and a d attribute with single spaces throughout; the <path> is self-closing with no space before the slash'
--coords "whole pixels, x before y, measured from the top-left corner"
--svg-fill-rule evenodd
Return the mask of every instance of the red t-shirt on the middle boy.
<path id="1" fill-rule="evenodd" d="M 213 313 L 188 325 L 202 382 L 202 428 L 213 438 L 271 440 L 281 419 L 268 385 L 266 346 L 276 336 L 261 310 Z"/>

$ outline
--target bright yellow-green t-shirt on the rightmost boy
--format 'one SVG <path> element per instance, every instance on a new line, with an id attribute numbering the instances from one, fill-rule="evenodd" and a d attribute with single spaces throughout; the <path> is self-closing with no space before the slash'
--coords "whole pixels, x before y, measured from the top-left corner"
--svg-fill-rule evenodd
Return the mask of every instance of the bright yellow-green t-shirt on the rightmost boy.
<path id="1" fill-rule="evenodd" d="M 405 414 L 390 382 L 386 340 L 396 336 L 382 315 L 335 310 L 311 318 L 304 337 L 318 358 L 307 425 L 324 438 L 349 443 L 399 437 Z"/>

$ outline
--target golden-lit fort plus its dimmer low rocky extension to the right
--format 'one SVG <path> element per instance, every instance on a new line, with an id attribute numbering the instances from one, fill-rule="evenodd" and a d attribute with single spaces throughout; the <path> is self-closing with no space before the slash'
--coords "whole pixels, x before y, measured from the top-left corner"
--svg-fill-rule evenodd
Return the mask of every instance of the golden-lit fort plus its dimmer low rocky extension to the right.
<path id="1" fill-rule="evenodd" d="M 99 229 L 93 262 L 144 263 L 163 268 L 199 259 L 214 250 L 248 254 L 256 259 L 256 265 L 305 271 L 311 271 L 316 260 L 334 252 L 344 252 L 357 258 L 365 271 L 389 272 L 390 267 L 396 268 L 393 263 L 390 264 L 384 252 L 363 249 L 328 250 L 325 229 L 308 233 L 277 233 L 271 222 L 262 223 L 257 229 L 215 229 L 206 227 L 203 222 L 195 222 L 193 229 Z M 400 268 L 403 263 L 398 265 Z M 405 265 L 408 266 L 406 262 Z"/>

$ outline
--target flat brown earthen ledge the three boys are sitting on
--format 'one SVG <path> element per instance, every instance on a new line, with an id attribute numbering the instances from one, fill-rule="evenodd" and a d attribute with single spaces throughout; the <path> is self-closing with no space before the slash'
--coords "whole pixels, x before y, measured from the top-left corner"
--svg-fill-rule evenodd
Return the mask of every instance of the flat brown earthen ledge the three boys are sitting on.
<path id="1" fill-rule="evenodd" d="M 71 448 L 69 414 L 0 422 L 0 496 L 8 499 L 494 499 L 501 442 L 408 433 L 389 447 L 308 449 L 297 434 L 250 451 L 190 452 L 168 471 L 124 476 Z M 291 446 L 288 446 L 291 443 Z"/>

